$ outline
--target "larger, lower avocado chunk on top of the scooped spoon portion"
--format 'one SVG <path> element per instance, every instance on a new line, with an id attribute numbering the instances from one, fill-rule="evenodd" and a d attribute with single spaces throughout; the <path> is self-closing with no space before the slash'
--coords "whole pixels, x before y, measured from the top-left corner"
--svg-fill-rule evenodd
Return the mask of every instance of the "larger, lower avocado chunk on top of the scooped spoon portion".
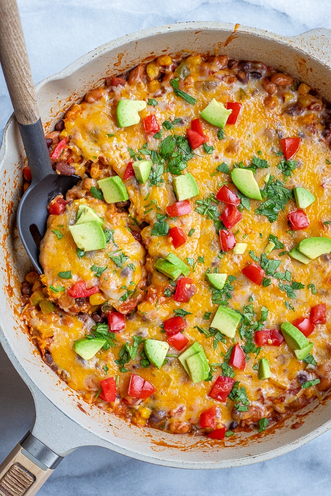
<path id="1" fill-rule="evenodd" d="M 106 236 L 96 221 L 69 226 L 73 241 L 84 251 L 106 248 Z"/>

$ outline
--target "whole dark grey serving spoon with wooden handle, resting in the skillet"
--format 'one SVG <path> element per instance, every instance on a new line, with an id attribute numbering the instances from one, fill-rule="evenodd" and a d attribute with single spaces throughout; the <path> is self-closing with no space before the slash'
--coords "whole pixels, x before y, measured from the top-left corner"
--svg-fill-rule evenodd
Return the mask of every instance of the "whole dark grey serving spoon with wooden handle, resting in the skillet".
<path id="1" fill-rule="evenodd" d="M 39 243 L 46 232 L 47 204 L 57 194 L 66 194 L 80 178 L 59 176 L 52 169 L 15 0 L 0 0 L 0 62 L 32 174 L 17 211 L 18 232 L 42 274 Z"/>

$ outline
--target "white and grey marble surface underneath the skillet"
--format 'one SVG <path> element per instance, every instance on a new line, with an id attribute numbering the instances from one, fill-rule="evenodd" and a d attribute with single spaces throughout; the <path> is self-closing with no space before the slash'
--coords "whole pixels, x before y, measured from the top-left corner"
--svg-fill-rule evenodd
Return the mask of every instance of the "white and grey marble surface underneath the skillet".
<path id="1" fill-rule="evenodd" d="M 218 20 L 298 34 L 331 28 L 329 0 L 19 0 L 34 81 L 93 48 L 141 28 Z M 12 112 L 0 71 L 0 137 Z M 0 347 L 0 460 L 26 433 L 32 396 Z M 279 458 L 249 467 L 180 470 L 132 460 L 103 448 L 80 448 L 60 464 L 40 496 L 324 496 L 331 487 L 331 432 Z"/>

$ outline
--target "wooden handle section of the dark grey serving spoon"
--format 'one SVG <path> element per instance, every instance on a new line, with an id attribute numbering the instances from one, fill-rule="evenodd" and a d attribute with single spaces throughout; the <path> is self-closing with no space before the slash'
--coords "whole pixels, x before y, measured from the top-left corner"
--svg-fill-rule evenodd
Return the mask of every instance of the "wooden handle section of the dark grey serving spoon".
<path id="1" fill-rule="evenodd" d="M 0 61 L 17 122 L 35 123 L 39 110 L 16 0 L 0 0 Z"/>

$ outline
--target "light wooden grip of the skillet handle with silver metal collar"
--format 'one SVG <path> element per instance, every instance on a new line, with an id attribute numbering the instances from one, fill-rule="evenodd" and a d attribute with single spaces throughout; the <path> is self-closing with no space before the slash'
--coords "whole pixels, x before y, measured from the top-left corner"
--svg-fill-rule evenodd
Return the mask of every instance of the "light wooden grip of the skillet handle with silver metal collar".
<path id="1" fill-rule="evenodd" d="M 0 496 L 34 496 L 62 459 L 28 432 L 0 465 Z"/>

